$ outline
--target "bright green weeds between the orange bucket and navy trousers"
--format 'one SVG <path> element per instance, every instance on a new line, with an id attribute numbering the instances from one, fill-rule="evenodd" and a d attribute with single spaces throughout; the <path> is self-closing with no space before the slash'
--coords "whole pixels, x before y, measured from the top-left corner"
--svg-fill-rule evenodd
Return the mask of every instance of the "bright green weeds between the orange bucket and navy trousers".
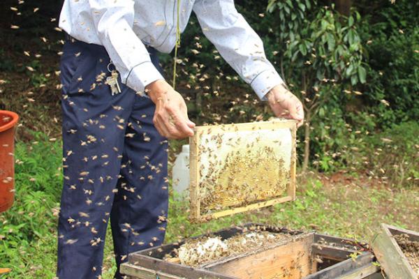
<path id="1" fill-rule="evenodd" d="M 0 262 L 13 269 L 13 278 L 54 277 L 61 145 L 43 135 L 36 139 L 16 145 L 15 204 L 0 216 Z"/>

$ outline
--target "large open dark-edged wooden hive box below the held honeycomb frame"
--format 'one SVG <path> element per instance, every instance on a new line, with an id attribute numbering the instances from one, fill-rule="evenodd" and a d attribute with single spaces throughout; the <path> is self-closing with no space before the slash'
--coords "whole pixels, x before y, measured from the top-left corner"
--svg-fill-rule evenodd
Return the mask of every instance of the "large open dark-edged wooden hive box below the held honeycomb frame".
<path id="1" fill-rule="evenodd" d="M 374 255 L 363 250 L 360 243 L 349 239 L 255 224 L 230 227 L 206 236 L 229 239 L 249 232 L 252 227 L 288 234 L 289 237 L 268 247 L 221 257 L 200 266 L 187 266 L 167 258 L 187 241 L 202 237 L 195 236 L 179 243 L 134 252 L 128 256 L 128 262 L 122 264 L 121 272 L 129 279 L 382 278 L 380 269 L 372 264 Z"/>

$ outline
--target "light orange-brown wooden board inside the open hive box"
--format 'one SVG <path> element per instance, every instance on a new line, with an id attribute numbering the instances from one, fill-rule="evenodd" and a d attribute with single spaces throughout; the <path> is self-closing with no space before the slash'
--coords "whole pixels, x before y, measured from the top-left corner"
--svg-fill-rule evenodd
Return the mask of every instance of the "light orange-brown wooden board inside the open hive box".
<path id="1" fill-rule="evenodd" d="M 312 272 L 313 239 L 313 234 L 297 240 L 288 239 L 283 245 L 223 260 L 212 264 L 208 269 L 241 279 L 299 279 Z"/>

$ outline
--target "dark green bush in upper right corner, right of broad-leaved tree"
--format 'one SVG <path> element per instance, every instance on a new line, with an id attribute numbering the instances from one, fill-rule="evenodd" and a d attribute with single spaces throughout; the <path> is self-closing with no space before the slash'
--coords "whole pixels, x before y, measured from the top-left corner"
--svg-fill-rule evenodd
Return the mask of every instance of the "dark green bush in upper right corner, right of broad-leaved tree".
<path id="1" fill-rule="evenodd" d="M 372 7 L 379 7 L 371 10 Z M 380 116 L 380 126 L 390 127 L 419 118 L 419 11 L 418 1 L 397 0 L 394 4 L 368 3 L 359 7 L 365 14 L 360 26 L 369 56 L 367 109 Z M 385 110 L 375 107 L 388 101 Z"/>

